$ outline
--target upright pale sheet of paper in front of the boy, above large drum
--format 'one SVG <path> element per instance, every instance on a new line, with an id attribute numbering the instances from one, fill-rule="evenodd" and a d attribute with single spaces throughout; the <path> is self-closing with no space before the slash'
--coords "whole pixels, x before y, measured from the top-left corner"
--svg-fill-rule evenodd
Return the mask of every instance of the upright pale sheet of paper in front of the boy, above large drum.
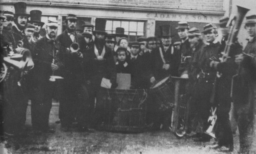
<path id="1" fill-rule="evenodd" d="M 125 73 L 117 73 L 116 74 L 116 82 L 118 86 L 116 89 L 127 90 L 130 89 L 130 74 Z"/>

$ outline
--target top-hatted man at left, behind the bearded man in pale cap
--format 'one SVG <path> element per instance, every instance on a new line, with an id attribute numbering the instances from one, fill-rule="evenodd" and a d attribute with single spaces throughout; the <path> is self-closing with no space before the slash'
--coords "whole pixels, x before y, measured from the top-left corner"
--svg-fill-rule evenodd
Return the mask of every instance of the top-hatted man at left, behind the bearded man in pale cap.
<path id="1" fill-rule="evenodd" d="M 35 42 L 37 42 L 39 39 L 42 38 L 42 36 L 40 35 L 40 30 L 42 26 L 44 26 L 44 22 L 41 22 L 41 16 L 42 16 L 42 12 L 40 10 L 30 11 L 30 21 L 28 21 L 28 23 L 31 23 L 35 26 L 35 30 L 34 30 Z"/>

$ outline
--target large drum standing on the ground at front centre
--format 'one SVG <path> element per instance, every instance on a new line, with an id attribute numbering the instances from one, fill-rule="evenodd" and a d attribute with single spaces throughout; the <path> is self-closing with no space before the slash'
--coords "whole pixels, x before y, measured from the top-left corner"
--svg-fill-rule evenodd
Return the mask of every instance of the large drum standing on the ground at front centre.
<path id="1" fill-rule="evenodd" d="M 104 130 L 111 132 L 139 133 L 145 130 L 147 91 L 106 89 Z"/>

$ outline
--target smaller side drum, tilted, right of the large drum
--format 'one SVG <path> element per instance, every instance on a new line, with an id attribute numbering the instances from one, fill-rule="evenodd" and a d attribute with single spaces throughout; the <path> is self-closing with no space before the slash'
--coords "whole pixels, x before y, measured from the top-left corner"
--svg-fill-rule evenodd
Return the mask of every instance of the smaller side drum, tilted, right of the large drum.
<path id="1" fill-rule="evenodd" d="M 174 83 L 170 77 L 158 82 L 151 89 L 152 94 L 159 103 L 159 109 L 162 111 L 173 108 L 174 106 Z"/>

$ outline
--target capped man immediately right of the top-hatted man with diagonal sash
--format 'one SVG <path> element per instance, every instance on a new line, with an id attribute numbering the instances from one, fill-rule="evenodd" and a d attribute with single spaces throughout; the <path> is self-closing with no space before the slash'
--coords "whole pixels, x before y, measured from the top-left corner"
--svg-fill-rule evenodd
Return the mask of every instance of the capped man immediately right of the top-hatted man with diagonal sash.
<path id="1" fill-rule="evenodd" d="M 181 39 L 178 75 L 188 78 L 188 68 L 192 58 L 191 53 L 189 52 L 190 45 L 188 42 L 189 24 L 186 21 L 180 21 L 178 22 L 178 27 L 176 27 L 176 29 L 178 31 L 179 38 Z"/>

